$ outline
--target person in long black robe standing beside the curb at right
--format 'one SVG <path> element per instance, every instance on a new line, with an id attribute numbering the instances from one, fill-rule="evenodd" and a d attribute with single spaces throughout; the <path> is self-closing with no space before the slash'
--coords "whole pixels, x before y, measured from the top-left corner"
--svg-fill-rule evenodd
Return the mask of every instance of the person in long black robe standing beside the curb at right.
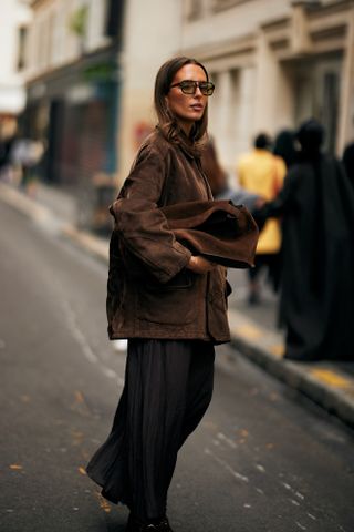
<path id="1" fill-rule="evenodd" d="M 354 360 L 354 191 L 321 153 L 323 137 L 315 120 L 302 124 L 299 163 L 258 213 L 283 219 L 280 320 L 292 360 Z"/>

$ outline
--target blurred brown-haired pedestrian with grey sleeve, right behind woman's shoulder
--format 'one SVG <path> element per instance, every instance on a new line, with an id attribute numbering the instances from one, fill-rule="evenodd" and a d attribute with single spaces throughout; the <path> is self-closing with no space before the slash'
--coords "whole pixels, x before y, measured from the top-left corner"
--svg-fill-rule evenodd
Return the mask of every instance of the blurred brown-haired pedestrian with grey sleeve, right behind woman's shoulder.
<path id="1" fill-rule="evenodd" d="M 230 186 L 228 173 L 219 162 L 215 141 L 210 136 L 201 151 L 201 166 L 215 200 L 229 200 L 235 205 L 242 204 L 250 211 L 256 208 L 260 196 L 240 186 L 237 190 Z"/>

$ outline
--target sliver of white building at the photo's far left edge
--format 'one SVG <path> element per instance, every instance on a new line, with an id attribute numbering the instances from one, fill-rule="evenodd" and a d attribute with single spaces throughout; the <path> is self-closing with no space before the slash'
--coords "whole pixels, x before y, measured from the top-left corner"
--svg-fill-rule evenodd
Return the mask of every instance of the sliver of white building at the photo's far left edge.
<path id="1" fill-rule="evenodd" d="M 17 117 L 23 111 L 24 37 L 31 10 L 23 0 L 1 3 L 0 17 L 0 140 L 14 133 Z"/>

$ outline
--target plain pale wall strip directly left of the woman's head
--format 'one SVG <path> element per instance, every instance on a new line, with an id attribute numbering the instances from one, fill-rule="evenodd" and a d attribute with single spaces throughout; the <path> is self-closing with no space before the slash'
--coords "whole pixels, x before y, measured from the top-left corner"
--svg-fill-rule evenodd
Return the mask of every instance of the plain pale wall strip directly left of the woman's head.
<path id="1" fill-rule="evenodd" d="M 136 151 L 153 130 L 154 82 L 164 61 L 178 53 L 181 0 L 128 0 L 122 54 L 122 115 L 118 181 L 126 177 Z"/>

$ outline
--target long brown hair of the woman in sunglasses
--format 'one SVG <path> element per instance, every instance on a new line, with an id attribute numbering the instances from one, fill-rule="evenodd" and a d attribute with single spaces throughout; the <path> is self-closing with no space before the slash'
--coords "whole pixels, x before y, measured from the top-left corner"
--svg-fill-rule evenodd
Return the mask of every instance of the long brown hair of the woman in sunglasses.
<path id="1" fill-rule="evenodd" d="M 157 72 L 155 80 L 155 110 L 157 113 L 158 127 L 168 141 L 183 145 L 189 152 L 191 150 L 199 152 L 198 149 L 204 145 L 202 141 L 206 137 L 207 132 L 208 106 L 206 106 L 201 119 L 195 122 L 190 139 L 187 139 L 178 127 L 176 117 L 170 113 L 166 105 L 165 96 L 168 94 L 175 74 L 178 70 L 185 66 L 185 64 L 197 64 L 200 66 L 207 76 L 207 81 L 209 81 L 207 69 L 196 59 L 177 57 L 166 61 Z"/>

